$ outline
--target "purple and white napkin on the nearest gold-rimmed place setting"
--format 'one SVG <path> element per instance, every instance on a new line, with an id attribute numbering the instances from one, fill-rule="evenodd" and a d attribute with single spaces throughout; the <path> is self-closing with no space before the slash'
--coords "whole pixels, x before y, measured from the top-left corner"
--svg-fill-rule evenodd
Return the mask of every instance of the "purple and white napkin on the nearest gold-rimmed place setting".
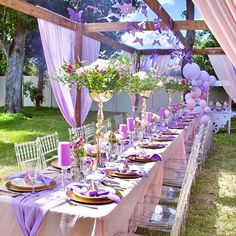
<path id="1" fill-rule="evenodd" d="M 72 183 L 69 184 L 67 186 L 68 189 L 72 189 L 73 192 L 77 195 L 84 195 L 87 197 L 100 197 L 100 196 L 104 196 L 107 197 L 109 199 L 111 199 L 112 201 L 114 201 L 115 203 L 119 203 L 120 202 L 120 198 L 112 191 L 96 191 L 96 190 L 89 190 L 86 186 L 79 184 L 79 183 Z"/>

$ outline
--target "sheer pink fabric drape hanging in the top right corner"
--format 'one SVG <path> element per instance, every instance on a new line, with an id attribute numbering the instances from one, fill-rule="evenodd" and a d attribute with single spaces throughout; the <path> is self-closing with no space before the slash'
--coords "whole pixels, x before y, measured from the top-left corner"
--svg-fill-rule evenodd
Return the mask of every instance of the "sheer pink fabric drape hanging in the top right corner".
<path id="1" fill-rule="evenodd" d="M 236 66 L 236 1 L 193 0 L 209 29 Z"/>

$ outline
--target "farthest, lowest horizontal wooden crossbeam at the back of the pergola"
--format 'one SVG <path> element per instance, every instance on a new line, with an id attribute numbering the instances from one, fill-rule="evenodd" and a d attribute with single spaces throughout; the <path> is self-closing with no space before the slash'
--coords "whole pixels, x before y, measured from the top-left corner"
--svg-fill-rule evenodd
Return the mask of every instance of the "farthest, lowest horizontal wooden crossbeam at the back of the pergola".
<path id="1" fill-rule="evenodd" d="M 140 50 L 141 55 L 170 55 L 172 52 L 177 51 L 178 49 L 156 49 L 156 50 Z M 181 49 L 179 49 L 181 50 Z M 217 54 L 225 54 L 222 48 L 205 48 L 205 49 L 192 49 L 192 54 L 199 55 L 217 55 Z"/>

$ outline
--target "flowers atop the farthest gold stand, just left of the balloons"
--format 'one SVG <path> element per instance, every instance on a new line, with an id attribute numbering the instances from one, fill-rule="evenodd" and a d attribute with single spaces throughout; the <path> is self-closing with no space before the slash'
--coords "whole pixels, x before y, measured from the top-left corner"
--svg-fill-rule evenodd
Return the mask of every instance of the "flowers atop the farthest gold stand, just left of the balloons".
<path id="1" fill-rule="evenodd" d="M 188 80 L 173 76 L 158 77 L 158 85 L 173 92 L 184 92 L 191 89 L 191 83 Z"/>

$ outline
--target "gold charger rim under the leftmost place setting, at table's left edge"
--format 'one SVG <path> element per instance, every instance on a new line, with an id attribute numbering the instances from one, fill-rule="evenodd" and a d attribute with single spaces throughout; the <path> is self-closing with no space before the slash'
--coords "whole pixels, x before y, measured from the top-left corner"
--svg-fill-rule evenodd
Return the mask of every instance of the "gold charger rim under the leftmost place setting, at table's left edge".
<path id="1" fill-rule="evenodd" d="M 56 185 L 57 185 L 56 181 L 52 180 L 49 185 L 38 186 L 38 187 L 35 187 L 34 190 L 35 191 L 48 190 L 48 189 L 54 188 Z M 5 186 L 7 187 L 7 189 L 14 191 L 14 192 L 31 192 L 33 190 L 33 188 L 30 186 L 29 187 L 15 186 L 9 180 L 5 183 Z"/>

